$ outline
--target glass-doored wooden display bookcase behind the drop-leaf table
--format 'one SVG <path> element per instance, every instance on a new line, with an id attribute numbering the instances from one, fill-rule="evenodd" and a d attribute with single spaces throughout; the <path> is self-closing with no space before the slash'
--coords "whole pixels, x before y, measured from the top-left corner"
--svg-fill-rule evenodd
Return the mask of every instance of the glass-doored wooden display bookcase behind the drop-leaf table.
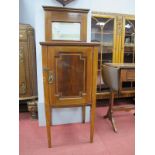
<path id="1" fill-rule="evenodd" d="M 91 41 L 100 43 L 98 54 L 97 98 L 109 98 L 109 88 L 101 76 L 104 63 L 135 62 L 135 20 L 132 15 L 92 12 Z M 116 97 L 134 96 L 124 91 Z"/>

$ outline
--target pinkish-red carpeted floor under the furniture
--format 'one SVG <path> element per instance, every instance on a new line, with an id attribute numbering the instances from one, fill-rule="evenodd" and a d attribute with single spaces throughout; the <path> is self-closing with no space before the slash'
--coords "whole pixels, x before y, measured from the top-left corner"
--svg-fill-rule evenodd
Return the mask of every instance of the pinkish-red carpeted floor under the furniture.
<path id="1" fill-rule="evenodd" d="M 20 155 L 134 155 L 135 120 L 131 112 L 115 112 L 118 133 L 103 119 L 106 107 L 96 109 L 94 143 L 89 143 L 89 123 L 52 127 L 52 145 L 47 147 L 46 128 L 29 113 L 20 113 Z"/>

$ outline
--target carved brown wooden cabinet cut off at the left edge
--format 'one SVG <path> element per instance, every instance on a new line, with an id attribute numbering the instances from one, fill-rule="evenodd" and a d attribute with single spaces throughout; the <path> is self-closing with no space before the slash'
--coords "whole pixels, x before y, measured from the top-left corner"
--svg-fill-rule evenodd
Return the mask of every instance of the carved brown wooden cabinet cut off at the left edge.
<path id="1" fill-rule="evenodd" d="M 37 70 L 34 30 L 19 25 L 19 101 L 27 102 L 32 117 L 37 117 Z"/>

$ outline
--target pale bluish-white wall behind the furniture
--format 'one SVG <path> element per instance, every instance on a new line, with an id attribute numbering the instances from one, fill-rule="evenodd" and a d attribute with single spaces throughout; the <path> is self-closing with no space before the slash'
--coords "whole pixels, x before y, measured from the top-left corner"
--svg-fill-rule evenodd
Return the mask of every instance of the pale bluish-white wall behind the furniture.
<path id="1" fill-rule="evenodd" d="M 20 19 L 22 23 L 31 24 L 35 28 L 36 38 L 36 53 L 37 53 L 37 75 L 38 75 L 38 112 L 39 125 L 45 125 L 44 113 L 44 92 L 42 79 L 42 55 L 40 41 L 45 40 L 44 36 L 44 11 L 42 6 L 62 6 L 55 0 L 20 0 Z M 87 41 L 90 41 L 91 31 L 91 11 L 102 11 L 112 13 L 134 14 L 135 1 L 134 0 L 75 0 L 67 7 L 72 8 L 88 8 L 90 9 L 88 15 L 88 33 Z M 86 121 L 89 121 L 89 110 L 86 108 Z M 72 117 L 74 116 L 74 117 Z M 53 110 L 53 124 L 64 124 L 81 122 L 80 108 L 64 108 Z"/>

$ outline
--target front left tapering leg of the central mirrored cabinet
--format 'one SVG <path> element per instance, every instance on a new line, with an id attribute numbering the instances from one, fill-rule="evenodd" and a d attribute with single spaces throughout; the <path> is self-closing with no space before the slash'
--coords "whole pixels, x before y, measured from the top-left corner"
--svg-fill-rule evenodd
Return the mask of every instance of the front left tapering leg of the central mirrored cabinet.
<path id="1" fill-rule="evenodd" d="M 47 139 L 48 147 L 51 148 L 51 108 L 46 106 L 46 129 L 47 129 Z"/>

